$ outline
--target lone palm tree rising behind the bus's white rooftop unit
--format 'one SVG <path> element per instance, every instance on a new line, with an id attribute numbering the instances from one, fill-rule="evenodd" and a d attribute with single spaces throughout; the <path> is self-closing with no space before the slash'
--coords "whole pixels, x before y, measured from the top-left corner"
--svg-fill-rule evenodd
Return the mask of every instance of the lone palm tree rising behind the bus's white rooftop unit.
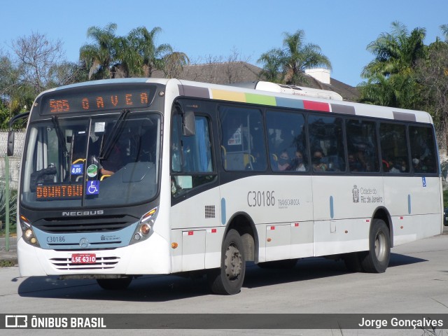
<path id="1" fill-rule="evenodd" d="M 269 79 L 275 78 L 276 69 L 281 70 L 281 79 L 286 84 L 306 82 L 304 70 L 316 66 L 331 69 L 328 57 L 314 43 L 304 44 L 304 31 L 299 29 L 294 34 L 284 33 L 283 48 L 272 49 L 261 55 L 258 62 L 265 63 L 263 73 Z"/>

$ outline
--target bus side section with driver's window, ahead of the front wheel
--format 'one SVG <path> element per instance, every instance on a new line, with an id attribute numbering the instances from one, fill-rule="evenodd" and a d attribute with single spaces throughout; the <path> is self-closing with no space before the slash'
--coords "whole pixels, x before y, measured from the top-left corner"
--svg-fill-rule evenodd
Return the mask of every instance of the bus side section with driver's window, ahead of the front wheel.
<path id="1" fill-rule="evenodd" d="M 221 261 L 221 203 L 210 121 L 199 114 L 200 105 L 192 106 L 197 109 L 194 132 L 183 132 L 181 112 L 172 119 L 170 223 L 172 241 L 181 244 L 172 252 L 172 272 L 219 267 Z"/>

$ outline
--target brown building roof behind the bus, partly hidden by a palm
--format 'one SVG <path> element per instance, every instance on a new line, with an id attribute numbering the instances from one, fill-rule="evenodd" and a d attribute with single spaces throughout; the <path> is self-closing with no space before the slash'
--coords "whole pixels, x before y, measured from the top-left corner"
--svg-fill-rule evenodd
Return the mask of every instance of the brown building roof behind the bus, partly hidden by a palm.
<path id="1" fill-rule="evenodd" d="M 179 74 L 178 78 L 213 84 L 256 82 L 262 80 L 260 78 L 261 70 L 258 66 L 246 62 L 193 64 L 183 66 L 183 71 Z M 359 92 L 356 87 L 342 83 L 334 78 L 330 79 L 331 84 L 325 84 L 309 76 L 307 73 L 304 73 L 304 76 L 308 78 L 307 83 L 297 83 L 297 85 L 334 91 L 339 93 L 344 100 L 352 102 L 358 101 Z M 162 71 L 154 71 L 153 77 L 164 78 L 165 73 Z"/>

